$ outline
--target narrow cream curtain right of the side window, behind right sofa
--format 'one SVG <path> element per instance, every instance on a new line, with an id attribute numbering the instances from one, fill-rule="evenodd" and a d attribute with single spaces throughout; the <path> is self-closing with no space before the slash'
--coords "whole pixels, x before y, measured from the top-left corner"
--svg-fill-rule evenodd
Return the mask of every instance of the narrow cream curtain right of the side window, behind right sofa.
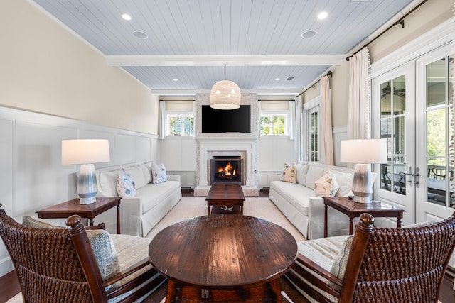
<path id="1" fill-rule="evenodd" d="M 321 162 L 333 165 L 332 101 L 328 76 L 321 77 Z"/>

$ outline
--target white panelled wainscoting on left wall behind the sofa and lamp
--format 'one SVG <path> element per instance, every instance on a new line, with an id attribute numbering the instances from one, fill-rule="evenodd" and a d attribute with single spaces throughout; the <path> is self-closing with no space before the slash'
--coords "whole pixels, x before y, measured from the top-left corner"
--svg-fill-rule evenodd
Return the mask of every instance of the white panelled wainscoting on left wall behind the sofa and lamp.
<path id="1" fill-rule="evenodd" d="M 77 197 L 79 165 L 61 165 L 61 141 L 109 140 L 111 160 L 95 167 L 160 159 L 158 137 L 0 107 L 0 203 L 16 221 Z M 0 276 L 12 269 L 0 241 Z"/>

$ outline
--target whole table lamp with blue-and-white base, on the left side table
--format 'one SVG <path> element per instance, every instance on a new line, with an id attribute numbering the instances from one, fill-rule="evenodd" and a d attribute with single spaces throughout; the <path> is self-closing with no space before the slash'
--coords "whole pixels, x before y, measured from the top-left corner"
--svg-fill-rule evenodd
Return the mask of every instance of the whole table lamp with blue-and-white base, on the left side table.
<path id="1" fill-rule="evenodd" d="M 77 195 L 80 204 L 96 202 L 98 191 L 93 163 L 109 162 L 109 141 L 80 139 L 62 141 L 62 164 L 80 164 Z"/>

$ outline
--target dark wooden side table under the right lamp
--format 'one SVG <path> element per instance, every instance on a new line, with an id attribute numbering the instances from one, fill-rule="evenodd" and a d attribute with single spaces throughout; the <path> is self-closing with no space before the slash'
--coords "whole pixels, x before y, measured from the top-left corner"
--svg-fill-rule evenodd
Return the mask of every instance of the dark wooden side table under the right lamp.
<path id="1" fill-rule="evenodd" d="M 401 219 L 405 209 L 400 209 L 380 201 L 371 201 L 368 204 L 354 202 L 347 197 L 324 197 L 324 237 L 327 236 L 327 209 L 341 211 L 349 217 L 349 234 L 353 234 L 353 219 L 360 214 L 368 213 L 374 217 L 397 217 L 397 227 L 401 227 Z"/>

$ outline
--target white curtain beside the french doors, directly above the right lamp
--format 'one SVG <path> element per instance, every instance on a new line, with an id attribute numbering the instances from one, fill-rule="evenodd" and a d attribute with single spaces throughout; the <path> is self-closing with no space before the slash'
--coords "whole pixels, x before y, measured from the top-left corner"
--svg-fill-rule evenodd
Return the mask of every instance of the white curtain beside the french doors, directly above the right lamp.
<path id="1" fill-rule="evenodd" d="M 349 60 L 348 139 L 370 138 L 370 52 L 368 48 Z"/>

